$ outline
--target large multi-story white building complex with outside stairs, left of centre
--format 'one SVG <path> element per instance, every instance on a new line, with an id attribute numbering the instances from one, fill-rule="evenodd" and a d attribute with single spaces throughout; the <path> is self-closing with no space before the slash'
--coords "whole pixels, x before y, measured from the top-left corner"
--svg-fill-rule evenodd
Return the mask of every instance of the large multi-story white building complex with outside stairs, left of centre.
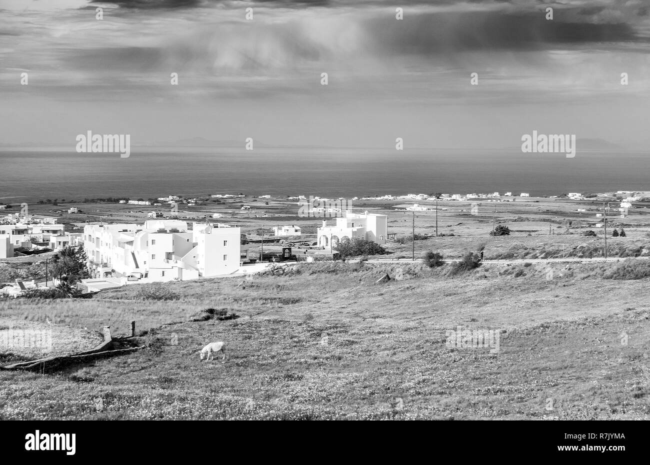
<path id="1" fill-rule="evenodd" d="M 214 228 L 181 220 L 92 224 L 84 246 L 94 277 L 170 281 L 219 276 L 239 269 L 239 228 Z"/>

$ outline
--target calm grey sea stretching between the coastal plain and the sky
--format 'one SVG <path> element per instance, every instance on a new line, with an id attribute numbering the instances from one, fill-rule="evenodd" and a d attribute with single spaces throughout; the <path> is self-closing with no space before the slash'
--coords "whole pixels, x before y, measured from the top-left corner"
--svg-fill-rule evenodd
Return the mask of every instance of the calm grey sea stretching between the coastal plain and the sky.
<path id="1" fill-rule="evenodd" d="M 650 191 L 645 152 L 563 154 L 458 150 L 134 149 L 0 152 L 0 199 L 245 193 L 326 197 L 407 193 Z"/>

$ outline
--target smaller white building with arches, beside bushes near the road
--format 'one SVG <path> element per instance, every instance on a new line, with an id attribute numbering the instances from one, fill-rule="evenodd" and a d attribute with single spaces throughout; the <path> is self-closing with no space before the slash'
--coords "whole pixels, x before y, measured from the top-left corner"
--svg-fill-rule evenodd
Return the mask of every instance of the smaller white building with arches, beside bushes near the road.
<path id="1" fill-rule="evenodd" d="M 317 230 L 318 246 L 335 247 L 339 241 L 359 237 L 367 241 L 385 244 L 387 238 L 387 215 L 375 213 L 350 213 L 347 211 L 343 218 L 337 218 L 336 224 L 328 226 L 323 220 L 322 227 Z"/>

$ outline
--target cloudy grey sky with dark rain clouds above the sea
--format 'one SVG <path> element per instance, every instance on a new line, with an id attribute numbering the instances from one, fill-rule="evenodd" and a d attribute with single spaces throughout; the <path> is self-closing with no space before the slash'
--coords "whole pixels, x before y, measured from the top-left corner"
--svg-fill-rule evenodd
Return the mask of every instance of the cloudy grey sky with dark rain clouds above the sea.
<path id="1" fill-rule="evenodd" d="M 0 0 L 0 143 L 643 148 L 649 51 L 650 0 Z"/>

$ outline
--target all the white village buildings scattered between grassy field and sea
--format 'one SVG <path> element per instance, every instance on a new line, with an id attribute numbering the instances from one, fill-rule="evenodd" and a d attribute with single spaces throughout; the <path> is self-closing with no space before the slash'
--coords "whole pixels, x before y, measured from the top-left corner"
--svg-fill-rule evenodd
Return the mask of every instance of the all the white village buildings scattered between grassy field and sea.
<path id="1" fill-rule="evenodd" d="M 598 194 L 602 195 L 602 194 Z M 565 196 L 569 200 L 590 200 L 597 198 L 597 194 L 569 193 Z M 638 202 L 644 198 L 639 193 L 631 191 L 617 191 L 606 194 L 616 201 L 620 201 L 618 210 L 621 217 L 627 214 L 627 209 L 632 207 L 631 202 Z M 244 194 L 215 194 L 214 199 L 245 198 Z M 270 195 L 258 196 L 259 199 L 270 200 Z M 552 196 L 551 198 L 557 198 Z M 289 196 L 290 201 L 297 201 L 298 205 L 307 204 L 305 196 Z M 387 230 L 388 217 L 376 213 L 353 213 L 347 206 L 355 200 L 408 200 L 408 201 L 471 201 L 486 200 L 487 202 L 514 202 L 515 200 L 528 200 L 530 194 L 520 193 L 513 196 L 507 192 L 500 195 L 498 192 L 488 194 L 406 194 L 402 196 L 384 195 L 377 197 L 354 197 L 346 199 L 329 199 L 320 197 L 309 198 L 308 217 L 320 218 L 317 227 L 316 241 L 282 240 L 279 259 L 305 259 L 312 261 L 319 255 L 330 258 L 337 253 L 334 248 L 346 239 L 361 238 L 379 245 L 385 245 L 389 238 Z M 183 199 L 179 196 L 166 196 L 152 200 L 116 200 L 121 204 L 142 206 L 171 206 L 170 211 L 149 211 L 144 224 L 86 224 L 74 226 L 73 230 L 66 230 L 64 224 L 59 224 L 55 217 L 34 217 L 22 213 L 8 213 L 0 217 L 0 259 L 20 256 L 30 256 L 49 251 L 60 251 L 64 248 L 79 248 L 83 246 L 87 257 L 87 268 L 90 278 L 82 280 L 79 286 L 85 291 L 99 291 L 111 287 L 120 287 L 127 284 L 142 282 L 166 282 L 171 280 L 188 280 L 201 277 L 228 276 L 237 273 L 257 272 L 265 267 L 265 257 L 259 255 L 250 259 L 248 254 L 242 255 L 243 243 L 240 228 L 228 224 L 210 222 L 185 222 L 176 217 L 174 206 L 187 204 L 194 206 L 200 204 L 199 198 Z M 0 210 L 6 206 L 0 205 Z M 250 209 L 249 205 L 240 206 L 240 209 Z M 395 209 L 402 211 L 434 211 L 435 206 L 424 206 L 414 203 L 412 206 L 397 206 Z M 441 210 L 447 209 L 442 207 Z M 586 211 L 578 208 L 577 211 Z M 78 207 L 70 207 L 69 214 L 81 213 Z M 223 217 L 222 213 L 213 213 L 213 219 Z M 265 215 L 266 216 L 266 215 Z M 302 216 L 302 215 L 298 215 Z M 597 217 L 602 217 L 597 213 Z M 328 218 L 331 220 L 328 221 Z M 593 222 L 593 226 L 603 226 L 602 219 Z M 302 229 L 294 224 L 278 225 L 272 228 L 275 237 L 300 237 Z M 263 243 L 263 241 L 262 241 Z M 291 245 L 300 244 L 304 247 L 302 255 L 296 257 L 292 253 Z M 267 248 L 268 250 L 268 248 Z M 275 259 L 275 257 L 274 257 Z M 257 263 L 256 263 L 257 262 Z M 38 287 L 32 282 L 10 283 L 0 289 L 2 293 L 18 294 L 28 287 Z"/>

